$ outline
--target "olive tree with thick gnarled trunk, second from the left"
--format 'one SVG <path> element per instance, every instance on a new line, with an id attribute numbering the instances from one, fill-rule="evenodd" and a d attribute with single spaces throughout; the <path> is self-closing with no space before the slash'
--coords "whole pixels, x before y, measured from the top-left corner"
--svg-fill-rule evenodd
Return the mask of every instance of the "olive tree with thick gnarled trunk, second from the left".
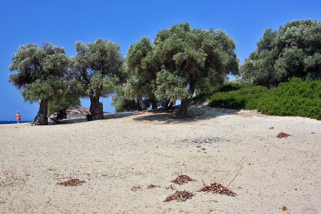
<path id="1" fill-rule="evenodd" d="M 119 83 L 124 62 L 117 43 L 106 39 L 95 42 L 75 43 L 74 75 L 81 88 L 81 97 L 90 98 L 90 113 L 93 120 L 104 119 L 100 97 L 114 93 Z"/>

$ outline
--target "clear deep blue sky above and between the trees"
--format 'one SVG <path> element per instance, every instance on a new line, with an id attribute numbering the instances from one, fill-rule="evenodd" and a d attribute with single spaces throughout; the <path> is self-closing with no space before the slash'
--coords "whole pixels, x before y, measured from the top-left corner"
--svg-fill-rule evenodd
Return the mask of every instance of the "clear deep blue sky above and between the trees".
<path id="1" fill-rule="evenodd" d="M 224 3 L 223 3 L 224 2 Z M 141 36 L 187 21 L 192 28 L 224 29 L 237 43 L 243 62 L 256 48 L 265 28 L 277 30 L 294 19 L 321 20 L 321 1 L 1 1 L 0 121 L 33 120 L 39 106 L 23 103 L 8 82 L 9 64 L 19 45 L 50 41 L 74 56 L 75 41 L 105 38 L 117 42 L 123 55 Z M 110 99 L 104 111 L 114 112 Z M 89 100 L 82 102 L 90 107 Z"/>

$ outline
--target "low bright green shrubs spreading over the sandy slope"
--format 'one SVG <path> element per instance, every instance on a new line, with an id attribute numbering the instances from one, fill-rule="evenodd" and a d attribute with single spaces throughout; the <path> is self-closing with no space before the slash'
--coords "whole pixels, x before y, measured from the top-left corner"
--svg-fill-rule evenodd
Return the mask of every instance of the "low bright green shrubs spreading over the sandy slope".
<path id="1" fill-rule="evenodd" d="M 193 99 L 199 98 L 196 96 Z M 257 109 L 268 115 L 303 116 L 321 120 L 321 81 L 292 78 L 273 89 L 228 83 L 213 90 L 206 99 L 213 107 Z"/>

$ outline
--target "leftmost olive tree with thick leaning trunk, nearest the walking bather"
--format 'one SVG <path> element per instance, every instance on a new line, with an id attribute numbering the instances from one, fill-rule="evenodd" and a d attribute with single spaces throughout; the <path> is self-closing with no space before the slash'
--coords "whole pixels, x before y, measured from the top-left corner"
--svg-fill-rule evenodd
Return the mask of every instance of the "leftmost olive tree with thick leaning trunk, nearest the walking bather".
<path id="1" fill-rule="evenodd" d="M 48 124 L 48 102 L 65 87 L 63 79 L 70 62 L 63 47 L 48 41 L 42 47 L 21 45 L 13 54 L 9 70 L 16 73 L 9 74 L 9 81 L 20 90 L 24 101 L 40 103 L 35 125 Z"/>

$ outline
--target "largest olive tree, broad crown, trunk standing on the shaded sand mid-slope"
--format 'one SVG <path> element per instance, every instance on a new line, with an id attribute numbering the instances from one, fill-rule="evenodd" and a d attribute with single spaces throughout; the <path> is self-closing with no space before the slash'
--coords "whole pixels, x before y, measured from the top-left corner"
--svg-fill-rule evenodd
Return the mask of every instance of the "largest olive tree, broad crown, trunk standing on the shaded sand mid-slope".
<path id="1" fill-rule="evenodd" d="M 174 118 L 188 117 L 187 107 L 195 90 L 205 91 L 219 77 L 238 74 L 235 41 L 224 30 L 191 29 L 185 23 L 160 30 L 153 42 L 155 95 L 161 101 L 181 100 Z"/>

